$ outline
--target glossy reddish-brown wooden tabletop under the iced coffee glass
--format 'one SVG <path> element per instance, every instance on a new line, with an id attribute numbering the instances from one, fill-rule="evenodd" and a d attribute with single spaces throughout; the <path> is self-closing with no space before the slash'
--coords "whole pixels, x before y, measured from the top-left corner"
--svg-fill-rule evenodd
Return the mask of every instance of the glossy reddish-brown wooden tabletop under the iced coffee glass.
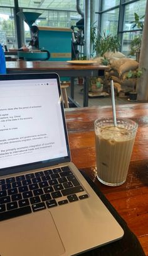
<path id="1" fill-rule="evenodd" d="M 117 117 L 139 125 L 127 180 L 119 187 L 105 186 L 96 177 L 93 122 L 111 117 L 112 107 L 69 108 L 65 113 L 73 163 L 105 194 L 148 255 L 148 103 L 117 106 Z"/>

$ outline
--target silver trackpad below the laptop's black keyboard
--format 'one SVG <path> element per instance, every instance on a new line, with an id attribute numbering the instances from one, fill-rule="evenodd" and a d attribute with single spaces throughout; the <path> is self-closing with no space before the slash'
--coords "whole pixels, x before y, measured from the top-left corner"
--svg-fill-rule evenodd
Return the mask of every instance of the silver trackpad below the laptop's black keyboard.
<path id="1" fill-rule="evenodd" d="M 0 255 L 59 256 L 65 253 L 50 211 L 36 212 L 0 224 Z M 9 241 L 9 246 L 8 246 Z"/>

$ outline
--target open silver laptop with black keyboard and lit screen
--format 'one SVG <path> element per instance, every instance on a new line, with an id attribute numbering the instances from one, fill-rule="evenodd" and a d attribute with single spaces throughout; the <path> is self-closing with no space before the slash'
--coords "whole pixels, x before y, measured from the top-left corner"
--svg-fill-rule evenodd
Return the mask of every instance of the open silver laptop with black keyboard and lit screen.
<path id="1" fill-rule="evenodd" d="M 0 76 L 0 255 L 70 256 L 124 231 L 71 162 L 60 79 Z"/>

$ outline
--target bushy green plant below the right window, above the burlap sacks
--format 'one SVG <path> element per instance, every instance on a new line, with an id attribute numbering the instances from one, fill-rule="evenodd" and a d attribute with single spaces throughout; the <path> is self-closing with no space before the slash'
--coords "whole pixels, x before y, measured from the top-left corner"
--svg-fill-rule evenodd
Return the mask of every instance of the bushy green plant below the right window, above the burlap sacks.
<path id="1" fill-rule="evenodd" d="M 117 35 L 106 35 L 106 33 L 103 32 L 102 36 L 100 35 L 100 32 L 95 24 L 91 26 L 90 42 L 93 45 L 93 52 L 100 56 L 103 56 L 105 52 L 115 52 L 119 50 L 120 47 L 120 39 Z"/>

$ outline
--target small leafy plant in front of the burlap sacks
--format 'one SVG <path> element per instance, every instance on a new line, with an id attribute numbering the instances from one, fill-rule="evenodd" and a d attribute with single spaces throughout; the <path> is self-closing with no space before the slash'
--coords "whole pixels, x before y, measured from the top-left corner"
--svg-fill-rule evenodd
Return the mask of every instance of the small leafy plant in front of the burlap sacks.
<path id="1" fill-rule="evenodd" d="M 129 92 L 129 100 L 132 102 L 137 101 L 137 91 L 136 91 L 136 84 L 137 84 L 137 79 L 140 78 L 140 76 L 142 76 L 143 70 L 142 69 L 137 69 L 135 71 L 129 71 L 127 73 L 126 78 L 130 79 L 130 78 L 134 78 L 135 79 L 135 84 L 133 86 L 132 91 Z"/>

